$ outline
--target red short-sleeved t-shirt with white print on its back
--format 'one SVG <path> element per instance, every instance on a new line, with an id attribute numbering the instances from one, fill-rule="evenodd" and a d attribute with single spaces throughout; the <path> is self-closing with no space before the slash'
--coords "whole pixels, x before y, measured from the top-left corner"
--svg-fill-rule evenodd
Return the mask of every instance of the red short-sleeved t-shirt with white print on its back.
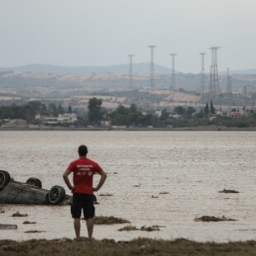
<path id="1" fill-rule="evenodd" d="M 93 194 L 92 180 L 95 173 L 101 173 L 102 168 L 91 159 L 79 158 L 69 164 L 69 171 L 73 172 L 73 193 Z"/>

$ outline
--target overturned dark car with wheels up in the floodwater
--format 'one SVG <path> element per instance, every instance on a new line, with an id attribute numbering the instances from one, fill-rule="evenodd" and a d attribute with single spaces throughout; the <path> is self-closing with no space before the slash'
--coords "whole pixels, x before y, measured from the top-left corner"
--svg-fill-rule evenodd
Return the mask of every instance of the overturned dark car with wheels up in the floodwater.
<path id="1" fill-rule="evenodd" d="M 0 170 L 0 203 L 27 205 L 59 205 L 67 201 L 64 187 L 42 188 L 38 178 L 26 183 L 14 181 L 7 171 Z"/>

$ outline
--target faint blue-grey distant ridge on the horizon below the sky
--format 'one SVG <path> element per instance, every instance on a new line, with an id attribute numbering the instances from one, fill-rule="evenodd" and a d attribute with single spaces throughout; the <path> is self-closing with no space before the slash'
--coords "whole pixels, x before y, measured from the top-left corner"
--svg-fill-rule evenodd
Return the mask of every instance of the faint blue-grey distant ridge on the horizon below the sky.
<path id="1" fill-rule="evenodd" d="M 149 73 L 149 63 L 140 63 L 132 65 L 133 73 Z M 81 66 L 68 67 L 48 64 L 28 64 L 10 68 L 0 68 L 0 72 L 12 71 L 21 73 L 129 73 L 129 64 L 111 65 L 111 66 Z M 170 73 L 170 69 L 155 64 L 155 73 Z"/>

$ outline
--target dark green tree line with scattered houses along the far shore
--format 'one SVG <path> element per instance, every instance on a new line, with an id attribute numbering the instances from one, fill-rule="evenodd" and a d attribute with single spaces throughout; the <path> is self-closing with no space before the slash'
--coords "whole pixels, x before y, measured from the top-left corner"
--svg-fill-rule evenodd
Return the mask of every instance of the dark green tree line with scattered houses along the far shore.
<path id="1" fill-rule="evenodd" d="M 45 106 L 40 101 L 28 102 L 23 106 L 2 106 L 0 107 L 0 120 L 3 119 L 24 119 L 28 123 L 36 123 L 36 114 L 48 114 L 58 116 L 64 113 L 73 113 L 72 107 L 64 109 L 62 105 L 50 103 Z M 209 118 L 213 116 L 213 118 Z M 216 109 L 211 101 L 210 107 L 206 103 L 201 111 L 196 112 L 193 107 L 177 106 L 172 112 L 167 109 L 161 110 L 161 115 L 156 115 L 153 111 L 142 112 L 135 104 L 130 107 L 119 105 L 114 111 L 107 111 L 102 107 L 102 99 L 92 97 L 88 101 L 88 111 L 78 115 L 76 126 L 102 126 L 111 123 L 112 126 L 154 126 L 154 127 L 187 127 L 187 126 L 256 126 L 256 115 L 250 111 L 249 115 L 242 118 L 231 118 L 227 115 L 217 115 Z"/>

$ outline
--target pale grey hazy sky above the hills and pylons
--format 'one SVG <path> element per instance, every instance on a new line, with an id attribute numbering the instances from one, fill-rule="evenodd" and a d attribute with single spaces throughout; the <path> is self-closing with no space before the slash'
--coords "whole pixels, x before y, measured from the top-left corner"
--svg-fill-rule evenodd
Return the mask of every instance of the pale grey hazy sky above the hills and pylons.
<path id="1" fill-rule="evenodd" d="M 149 62 L 200 73 L 256 68 L 255 0 L 0 0 L 0 67 Z"/>

